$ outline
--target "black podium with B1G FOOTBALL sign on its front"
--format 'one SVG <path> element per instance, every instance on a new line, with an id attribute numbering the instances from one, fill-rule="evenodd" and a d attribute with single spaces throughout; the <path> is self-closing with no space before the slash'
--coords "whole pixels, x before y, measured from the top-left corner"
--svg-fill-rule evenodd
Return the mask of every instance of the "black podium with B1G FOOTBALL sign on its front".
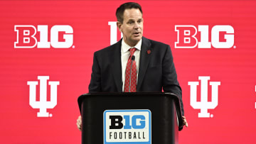
<path id="1" fill-rule="evenodd" d="M 171 93 L 92 93 L 78 98 L 83 144 L 172 144 L 183 128 Z"/>

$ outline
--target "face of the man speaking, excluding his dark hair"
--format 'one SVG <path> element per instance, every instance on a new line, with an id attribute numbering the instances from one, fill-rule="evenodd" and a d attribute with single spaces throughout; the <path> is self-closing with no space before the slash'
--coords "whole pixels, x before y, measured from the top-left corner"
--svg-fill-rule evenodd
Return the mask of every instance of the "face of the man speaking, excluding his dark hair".
<path id="1" fill-rule="evenodd" d="M 143 18 L 139 9 L 124 10 L 123 23 L 117 22 L 119 31 L 123 33 L 124 42 L 129 46 L 135 46 L 143 34 Z"/>

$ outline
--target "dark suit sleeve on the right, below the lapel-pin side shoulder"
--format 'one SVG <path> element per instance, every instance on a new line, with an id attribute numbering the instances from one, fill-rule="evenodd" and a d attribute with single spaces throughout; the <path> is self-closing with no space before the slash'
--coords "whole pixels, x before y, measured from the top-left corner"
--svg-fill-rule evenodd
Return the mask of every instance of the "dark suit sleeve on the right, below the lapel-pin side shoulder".
<path id="1" fill-rule="evenodd" d="M 169 45 L 167 46 L 166 53 L 164 55 L 162 70 L 164 92 L 171 92 L 178 96 L 181 103 L 182 116 L 184 116 L 182 91 L 180 85 L 178 84 L 176 69 L 174 67 L 174 58 L 171 54 L 171 48 Z"/>

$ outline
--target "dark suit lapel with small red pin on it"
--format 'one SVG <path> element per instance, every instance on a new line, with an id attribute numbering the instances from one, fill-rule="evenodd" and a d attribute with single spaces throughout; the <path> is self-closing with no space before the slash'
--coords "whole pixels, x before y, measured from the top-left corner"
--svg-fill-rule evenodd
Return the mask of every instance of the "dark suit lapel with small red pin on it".
<path id="1" fill-rule="evenodd" d="M 139 89 L 142 86 L 144 75 L 149 65 L 151 51 L 152 49 L 151 49 L 150 41 L 147 38 L 142 37 L 142 51 L 140 53 L 140 61 L 139 61 L 139 76 L 138 76 L 138 82 L 137 82 L 137 92 L 139 92 Z"/>

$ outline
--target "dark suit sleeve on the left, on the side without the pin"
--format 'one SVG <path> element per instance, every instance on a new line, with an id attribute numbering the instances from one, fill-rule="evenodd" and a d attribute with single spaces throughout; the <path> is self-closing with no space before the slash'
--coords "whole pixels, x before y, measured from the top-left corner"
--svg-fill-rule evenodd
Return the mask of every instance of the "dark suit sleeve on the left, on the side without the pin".
<path id="1" fill-rule="evenodd" d="M 89 84 L 89 93 L 102 92 L 101 78 L 100 78 L 100 65 L 97 60 L 96 52 L 93 55 L 92 74 Z"/>

